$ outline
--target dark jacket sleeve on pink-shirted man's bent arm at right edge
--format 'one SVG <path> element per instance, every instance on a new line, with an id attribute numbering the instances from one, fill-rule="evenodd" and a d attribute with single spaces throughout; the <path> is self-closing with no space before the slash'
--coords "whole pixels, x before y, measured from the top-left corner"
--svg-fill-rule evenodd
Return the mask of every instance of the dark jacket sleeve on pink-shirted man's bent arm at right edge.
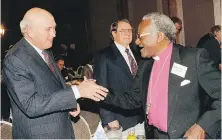
<path id="1" fill-rule="evenodd" d="M 213 102 L 211 109 L 206 111 L 197 123 L 211 138 L 216 138 L 221 127 L 221 73 L 212 64 L 205 49 L 198 52 L 196 58 L 198 81 Z"/>

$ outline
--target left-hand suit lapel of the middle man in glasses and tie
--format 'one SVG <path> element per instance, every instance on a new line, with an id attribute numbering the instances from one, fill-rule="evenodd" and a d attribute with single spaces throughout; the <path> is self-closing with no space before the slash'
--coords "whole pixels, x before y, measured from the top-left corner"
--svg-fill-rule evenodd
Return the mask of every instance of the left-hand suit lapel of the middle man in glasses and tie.
<path id="1" fill-rule="evenodd" d="M 132 79 L 133 76 L 131 74 L 129 66 L 127 65 L 124 57 L 122 56 L 122 54 L 120 53 L 120 51 L 118 50 L 115 44 L 112 44 L 111 47 L 113 49 L 113 56 L 114 56 L 116 65 L 118 65 Z"/>

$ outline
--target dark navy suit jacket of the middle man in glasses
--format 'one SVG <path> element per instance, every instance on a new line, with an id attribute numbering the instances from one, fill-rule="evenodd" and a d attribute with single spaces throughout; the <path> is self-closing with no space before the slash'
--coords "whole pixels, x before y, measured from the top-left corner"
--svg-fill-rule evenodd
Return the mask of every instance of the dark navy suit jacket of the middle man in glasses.
<path id="1" fill-rule="evenodd" d="M 94 59 L 93 75 L 97 83 L 120 92 L 130 89 L 133 76 L 122 54 L 113 43 L 105 48 Z M 112 105 L 101 105 L 100 116 L 103 125 L 118 120 L 123 130 L 135 126 L 142 121 L 142 110 L 123 110 Z"/>

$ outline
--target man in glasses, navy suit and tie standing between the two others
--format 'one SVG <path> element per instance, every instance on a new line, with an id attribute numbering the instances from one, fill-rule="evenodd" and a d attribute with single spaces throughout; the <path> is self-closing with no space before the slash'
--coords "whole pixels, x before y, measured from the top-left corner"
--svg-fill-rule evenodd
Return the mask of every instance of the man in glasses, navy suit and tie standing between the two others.
<path id="1" fill-rule="evenodd" d="M 133 29 L 126 19 L 111 24 L 111 45 L 102 50 L 94 59 L 94 79 L 102 86 L 125 92 L 132 86 L 138 66 L 130 48 Z M 142 122 L 140 109 L 124 110 L 113 105 L 101 104 L 100 116 L 104 127 L 122 127 L 126 130 Z"/>

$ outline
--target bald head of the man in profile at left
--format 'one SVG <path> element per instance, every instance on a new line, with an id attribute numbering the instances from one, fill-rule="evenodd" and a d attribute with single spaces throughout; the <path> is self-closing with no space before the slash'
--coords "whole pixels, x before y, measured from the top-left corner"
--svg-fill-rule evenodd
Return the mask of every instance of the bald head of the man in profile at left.
<path id="1" fill-rule="evenodd" d="M 56 35 L 54 17 L 41 8 L 28 10 L 20 22 L 23 36 L 41 50 L 52 47 Z"/>

